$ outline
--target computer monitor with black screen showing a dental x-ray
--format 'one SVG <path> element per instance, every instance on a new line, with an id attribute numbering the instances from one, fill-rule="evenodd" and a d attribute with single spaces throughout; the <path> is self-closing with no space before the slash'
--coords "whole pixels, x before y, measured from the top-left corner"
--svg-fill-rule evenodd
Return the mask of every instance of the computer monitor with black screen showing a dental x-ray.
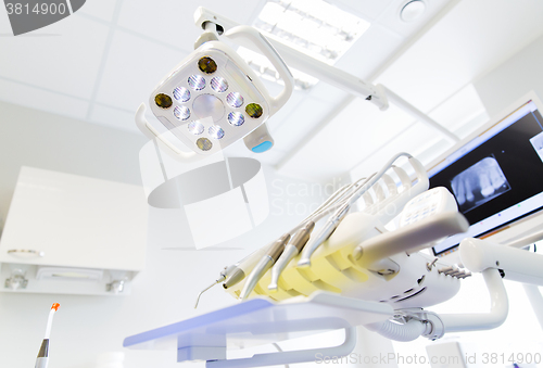
<path id="1" fill-rule="evenodd" d="M 434 255 L 454 252 L 468 237 L 506 230 L 502 239 L 514 239 L 514 225 L 527 216 L 532 227 L 543 227 L 542 111 L 530 92 L 430 165 L 430 188 L 447 188 L 470 224 L 467 232 L 433 246 Z"/>

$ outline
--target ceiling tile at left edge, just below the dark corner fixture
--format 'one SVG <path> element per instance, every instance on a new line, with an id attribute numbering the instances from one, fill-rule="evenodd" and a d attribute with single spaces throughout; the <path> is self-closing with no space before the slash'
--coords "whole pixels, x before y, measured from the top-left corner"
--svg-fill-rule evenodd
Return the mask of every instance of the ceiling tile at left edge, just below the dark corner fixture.
<path id="1" fill-rule="evenodd" d="M 68 17 L 27 36 L 0 37 L 0 76 L 89 99 L 108 27 Z"/>

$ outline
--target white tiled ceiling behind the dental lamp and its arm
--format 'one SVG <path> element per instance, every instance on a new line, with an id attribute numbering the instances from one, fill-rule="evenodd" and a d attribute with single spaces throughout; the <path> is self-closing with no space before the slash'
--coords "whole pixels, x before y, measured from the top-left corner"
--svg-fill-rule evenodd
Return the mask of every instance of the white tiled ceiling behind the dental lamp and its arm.
<path id="1" fill-rule="evenodd" d="M 543 34 L 543 2 L 534 0 L 426 0 L 427 12 L 408 24 L 399 17 L 407 0 L 330 2 L 371 23 L 336 66 L 386 85 L 460 137 L 483 123 L 471 81 Z M 251 24 L 264 3 L 87 0 L 73 16 L 18 37 L 0 11 L 0 100 L 139 134 L 136 109 L 200 34 L 195 9 Z M 295 91 L 268 127 L 269 152 L 255 155 L 239 142 L 227 154 L 327 179 L 372 169 L 400 150 L 431 158 L 447 147 L 394 106 L 381 113 L 324 83 Z"/>

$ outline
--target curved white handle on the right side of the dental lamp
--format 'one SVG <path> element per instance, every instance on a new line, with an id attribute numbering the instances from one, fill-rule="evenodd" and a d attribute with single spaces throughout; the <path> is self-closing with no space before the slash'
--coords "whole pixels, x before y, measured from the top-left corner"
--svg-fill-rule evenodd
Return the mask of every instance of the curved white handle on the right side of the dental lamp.
<path id="1" fill-rule="evenodd" d="M 272 43 L 269 43 L 266 37 L 253 27 L 237 26 L 226 31 L 224 36 L 231 40 L 236 40 L 238 43 L 240 39 L 250 41 L 272 62 L 277 73 L 279 73 L 279 76 L 285 83 L 285 88 L 281 92 L 279 92 L 279 94 L 270 98 L 269 115 L 274 115 L 279 109 L 282 107 L 283 104 L 287 103 L 292 94 L 292 91 L 294 90 L 294 77 L 292 76 L 292 73 L 290 73 L 289 67 L 285 64 L 285 61 L 277 53 Z"/>

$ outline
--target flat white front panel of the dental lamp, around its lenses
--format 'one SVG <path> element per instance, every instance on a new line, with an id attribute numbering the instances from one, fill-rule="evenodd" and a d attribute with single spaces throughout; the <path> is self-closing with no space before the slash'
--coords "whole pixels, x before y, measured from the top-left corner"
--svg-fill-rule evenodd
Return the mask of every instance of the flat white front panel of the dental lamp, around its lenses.
<path id="1" fill-rule="evenodd" d="M 198 62 L 202 58 L 211 58 L 217 64 L 217 71 L 213 74 L 203 73 Z M 189 86 L 188 79 L 192 75 L 201 76 L 205 80 L 205 87 L 201 90 L 192 89 Z M 228 88 L 224 92 L 215 92 L 211 87 L 211 80 L 215 77 L 224 78 Z M 174 90 L 176 88 L 186 88 L 190 92 L 190 99 L 186 102 L 178 101 L 174 98 Z M 219 41 L 210 41 L 202 45 L 194 50 L 188 59 L 182 61 L 176 71 L 166 78 L 156 89 L 151 93 L 149 105 L 151 111 L 164 125 L 167 130 L 171 130 L 185 145 L 197 153 L 209 155 L 216 153 L 233 142 L 242 139 L 244 136 L 256 129 L 269 116 L 269 98 L 262 91 L 265 90 L 256 76 L 249 68 L 247 63 L 239 60 L 236 52 L 227 45 Z M 235 107 L 227 102 L 227 96 L 231 92 L 240 93 L 243 102 L 239 107 Z M 156 105 L 154 98 L 159 93 L 167 94 L 173 100 L 173 105 L 169 109 L 162 109 Z M 202 97 L 203 96 L 203 97 Z M 197 116 L 198 101 L 209 98 L 211 101 L 216 102 L 213 113 L 213 122 L 200 122 L 205 116 Z M 258 118 L 250 117 L 245 107 L 250 103 L 256 103 L 262 106 L 263 113 Z M 201 103 L 200 103 L 201 104 Z M 176 107 L 187 107 L 190 117 L 182 120 L 175 116 Z M 236 126 L 228 122 L 230 113 L 242 114 L 243 124 Z M 200 122 L 205 126 L 203 132 L 195 135 L 189 131 L 188 126 L 191 122 Z M 213 138 L 209 129 L 212 125 L 217 125 L 224 130 L 224 137 L 220 139 Z M 200 138 L 207 138 L 213 143 L 213 149 L 203 151 L 198 148 L 197 141 Z"/>

